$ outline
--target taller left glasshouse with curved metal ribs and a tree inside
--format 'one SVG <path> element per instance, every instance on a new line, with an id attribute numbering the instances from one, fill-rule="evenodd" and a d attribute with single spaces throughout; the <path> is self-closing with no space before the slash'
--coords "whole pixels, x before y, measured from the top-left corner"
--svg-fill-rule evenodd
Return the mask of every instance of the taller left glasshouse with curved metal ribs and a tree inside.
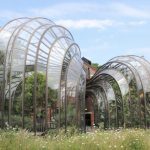
<path id="1" fill-rule="evenodd" d="M 86 77 L 66 28 L 46 18 L 12 20 L 0 30 L 0 57 L 2 127 L 84 129 Z"/>

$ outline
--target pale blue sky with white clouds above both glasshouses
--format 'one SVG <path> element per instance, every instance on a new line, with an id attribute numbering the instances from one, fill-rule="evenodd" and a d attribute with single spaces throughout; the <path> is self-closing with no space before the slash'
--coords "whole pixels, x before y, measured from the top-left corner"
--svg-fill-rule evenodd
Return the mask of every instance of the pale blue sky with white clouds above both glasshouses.
<path id="1" fill-rule="evenodd" d="M 0 26 L 23 16 L 67 27 L 93 62 L 127 54 L 150 60 L 150 0 L 0 0 Z"/>

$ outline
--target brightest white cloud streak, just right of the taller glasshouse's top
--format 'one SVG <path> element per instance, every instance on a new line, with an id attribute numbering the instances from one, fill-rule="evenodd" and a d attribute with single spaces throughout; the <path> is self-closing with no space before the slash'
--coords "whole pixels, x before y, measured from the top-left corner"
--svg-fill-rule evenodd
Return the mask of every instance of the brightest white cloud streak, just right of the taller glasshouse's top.
<path id="1" fill-rule="evenodd" d="M 97 19 L 81 19 L 81 20 L 58 20 L 56 24 L 63 25 L 67 28 L 97 28 L 105 29 L 113 26 L 114 21 L 112 20 L 97 20 Z"/>

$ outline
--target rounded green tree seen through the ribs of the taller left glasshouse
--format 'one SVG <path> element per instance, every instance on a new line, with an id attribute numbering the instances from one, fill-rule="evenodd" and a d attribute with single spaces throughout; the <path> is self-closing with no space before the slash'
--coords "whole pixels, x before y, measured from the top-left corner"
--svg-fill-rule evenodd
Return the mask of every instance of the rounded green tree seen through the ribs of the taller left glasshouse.
<path id="1" fill-rule="evenodd" d="M 34 94 L 34 73 L 26 78 L 25 81 L 25 109 L 26 113 L 29 113 L 33 110 L 33 94 Z M 14 101 L 14 112 L 19 114 L 21 112 L 21 99 L 22 95 L 22 84 L 17 89 L 17 94 Z M 37 108 L 43 108 L 45 106 L 45 91 L 46 91 L 46 76 L 42 73 L 37 74 L 37 87 L 36 87 L 36 101 Z M 48 104 L 52 106 L 57 100 L 58 92 L 53 90 L 50 87 L 48 88 Z"/>

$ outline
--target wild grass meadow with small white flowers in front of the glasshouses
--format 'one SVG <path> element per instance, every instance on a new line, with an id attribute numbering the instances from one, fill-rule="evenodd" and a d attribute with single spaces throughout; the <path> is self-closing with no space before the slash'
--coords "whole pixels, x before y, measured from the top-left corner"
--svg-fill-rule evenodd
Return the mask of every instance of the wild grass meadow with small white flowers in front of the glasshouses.
<path id="1" fill-rule="evenodd" d="M 79 134 L 76 130 L 64 134 L 50 132 L 33 136 L 25 130 L 0 130 L 0 150 L 150 150 L 150 131 L 124 129 L 95 130 Z"/>

